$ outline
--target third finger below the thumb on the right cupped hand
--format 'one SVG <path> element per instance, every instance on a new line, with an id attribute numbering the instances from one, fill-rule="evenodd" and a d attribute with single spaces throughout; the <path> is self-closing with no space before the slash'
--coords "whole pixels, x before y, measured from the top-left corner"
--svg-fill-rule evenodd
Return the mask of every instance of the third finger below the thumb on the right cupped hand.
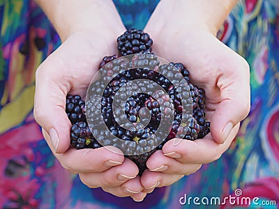
<path id="1" fill-rule="evenodd" d="M 176 181 L 183 178 L 180 174 L 166 174 L 161 172 L 153 172 L 146 170 L 142 174 L 141 183 L 145 189 L 154 189 L 156 187 L 165 187 L 172 185 Z"/>

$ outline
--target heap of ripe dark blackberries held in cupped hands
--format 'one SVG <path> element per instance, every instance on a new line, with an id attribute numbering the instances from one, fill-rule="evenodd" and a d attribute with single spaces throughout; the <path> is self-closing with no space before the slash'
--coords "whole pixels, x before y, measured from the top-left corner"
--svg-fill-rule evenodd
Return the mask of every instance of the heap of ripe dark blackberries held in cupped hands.
<path id="1" fill-rule="evenodd" d="M 170 139 L 202 139 L 210 132 L 205 92 L 190 83 L 182 63 L 162 63 L 144 31 L 129 29 L 117 44 L 121 56 L 103 58 L 86 100 L 66 97 L 70 144 L 117 147 L 137 164 L 141 176 L 146 160 Z"/>

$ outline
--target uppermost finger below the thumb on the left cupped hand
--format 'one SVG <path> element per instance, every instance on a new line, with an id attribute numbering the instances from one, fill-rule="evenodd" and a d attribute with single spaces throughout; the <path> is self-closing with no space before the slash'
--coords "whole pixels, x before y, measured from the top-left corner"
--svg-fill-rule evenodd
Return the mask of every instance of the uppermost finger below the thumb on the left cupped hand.
<path id="1" fill-rule="evenodd" d="M 43 130 L 43 135 L 49 141 L 49 135 Z M 114 150 L 114 151 L 113 151 Z M 52 150 L 54 153 L 54 150 Z M 97 149 L 68 149 L 65 153 L 54 153 L 61 166 L 72 173 L 102 172 L 111 167 L 122 164 L 124 155 L 119 154 L 121 150 L 110 146 L 110 148 Z"/>

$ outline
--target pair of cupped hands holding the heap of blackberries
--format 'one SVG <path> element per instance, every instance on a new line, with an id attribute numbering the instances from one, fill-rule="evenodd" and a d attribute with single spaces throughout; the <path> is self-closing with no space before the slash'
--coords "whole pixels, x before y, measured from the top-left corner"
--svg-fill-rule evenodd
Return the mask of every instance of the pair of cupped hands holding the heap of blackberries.
<path id="1" fill-rule="evenodd" d="M 209 25 L 186 24 L 182 17 L 158 8 L 144 31 L 153 39 L 157 56 L 186 65 L 191 82 L 206 91 L 211 133 L 196 141 L 168 141 L 149 157 L 141 177 L 134 162 L 107 148 L 70 148 L 66 95 L 85 97 L 103 56 L 117 54 L 116 38 L 126 29 L 116 10 L 92 20 L 94 30 L 77 27 L 61 37 L 62 45 L 36 71 L 36 121 L 62 167 L 77 173 L 88 187 L 142 201 L 156 187 L 172 185 L 202 164 L 218 160 L 236 137 L 250 109 L 248 63 L 220 42 Z"/>

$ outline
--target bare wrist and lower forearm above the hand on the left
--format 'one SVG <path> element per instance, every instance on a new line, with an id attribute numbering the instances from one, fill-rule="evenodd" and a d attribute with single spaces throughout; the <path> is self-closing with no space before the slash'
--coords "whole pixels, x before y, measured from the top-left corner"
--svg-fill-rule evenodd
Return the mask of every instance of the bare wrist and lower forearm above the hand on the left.
<path id="1" fill-rule="evenodd" d="M 65 41 L 78 32 L 99 33 L 104 38 L 117 36 L 123 24 L 111 0 L 36 0 L 59 36 Z"/>

